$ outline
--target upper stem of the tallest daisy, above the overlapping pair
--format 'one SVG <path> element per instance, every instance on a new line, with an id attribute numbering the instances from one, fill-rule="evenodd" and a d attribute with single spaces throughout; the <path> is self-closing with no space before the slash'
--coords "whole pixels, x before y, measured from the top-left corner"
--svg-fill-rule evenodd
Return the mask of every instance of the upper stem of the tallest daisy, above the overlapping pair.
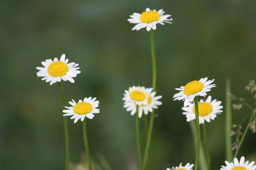
<path id="1" fill-rule="evenodd" d="M 156 90 L 156 52 L 155 52 L 155 42 L 154 42 L 154 31 L 150 31 L 150 45 L 151 45 L 151 57 L 152 57 L 152 87 Z"/>

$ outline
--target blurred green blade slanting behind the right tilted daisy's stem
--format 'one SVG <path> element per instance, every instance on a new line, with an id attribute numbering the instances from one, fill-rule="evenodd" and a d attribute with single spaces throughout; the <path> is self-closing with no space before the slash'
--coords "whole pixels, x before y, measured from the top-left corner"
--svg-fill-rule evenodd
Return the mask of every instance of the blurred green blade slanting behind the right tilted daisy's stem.
<path id="1" fill-rule="evenodd" d="M 192 132 L 192 136 L 193 136 L 193 141 L 194 141 L 194 145 L 195 145 L 195 150 L 196 150 L 196 124 L 194 121 L 190 121 L 189 122 L 190 128 L 191 128 L 191 132 Z M 200 169 L 207 169 L 207 164 L 206 164 L 206 160 L 205 160 L 205 152 L 204 152 L 204 148 L 202 145 L 200 145 L 200 155 L 199 155 L 199 166 Z"/>

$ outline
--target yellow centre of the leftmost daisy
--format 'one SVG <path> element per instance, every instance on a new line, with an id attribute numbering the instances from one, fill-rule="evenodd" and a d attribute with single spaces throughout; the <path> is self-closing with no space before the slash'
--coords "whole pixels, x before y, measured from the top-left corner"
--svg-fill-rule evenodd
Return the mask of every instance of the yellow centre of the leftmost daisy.
<path id="1" fill-rule="evenodd" d="M 60 77 L 66 75 L 68 66 L 62 61 L 55 61 L 48 67 L 48 73 L 53 77 Z"/>

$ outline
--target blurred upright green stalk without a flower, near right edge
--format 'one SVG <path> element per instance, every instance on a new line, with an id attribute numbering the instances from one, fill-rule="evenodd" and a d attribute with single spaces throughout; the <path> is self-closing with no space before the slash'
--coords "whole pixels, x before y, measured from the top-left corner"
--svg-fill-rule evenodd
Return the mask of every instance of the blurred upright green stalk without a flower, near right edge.
<path id="1" fill-rule="evenodd" d="M 232 108 L 230 99 L 230 80 L 226 80 L 226 116 L 225 116 L 225 145 L 226 145 L 226 159 L 228 162 L 232 161 L 232 139 L 230 136 L 230 130 L 232 125 Z"/>

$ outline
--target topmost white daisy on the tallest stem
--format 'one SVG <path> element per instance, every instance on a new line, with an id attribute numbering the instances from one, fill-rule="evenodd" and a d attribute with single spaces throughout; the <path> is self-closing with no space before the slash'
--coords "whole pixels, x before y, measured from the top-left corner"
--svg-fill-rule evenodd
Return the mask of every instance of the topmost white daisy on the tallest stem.
<path id="1" fill-rule="evenodd" d="M 171 17 L 172 15 L 163 15 L 163 10 L 150 10 L 149 8 L 146 9 L 143 13 L 133 13 L 130 15 L 131 18 L 128 21 L 132 24 L 136 24 L 132 30 L 140 30 L 142 28 L 147 27 L 147 31 L 150 29 L 156 30 L 156 24 L 164 25 L 164 22 L 172 24 L 170 22 L 173 20 Z"/>

